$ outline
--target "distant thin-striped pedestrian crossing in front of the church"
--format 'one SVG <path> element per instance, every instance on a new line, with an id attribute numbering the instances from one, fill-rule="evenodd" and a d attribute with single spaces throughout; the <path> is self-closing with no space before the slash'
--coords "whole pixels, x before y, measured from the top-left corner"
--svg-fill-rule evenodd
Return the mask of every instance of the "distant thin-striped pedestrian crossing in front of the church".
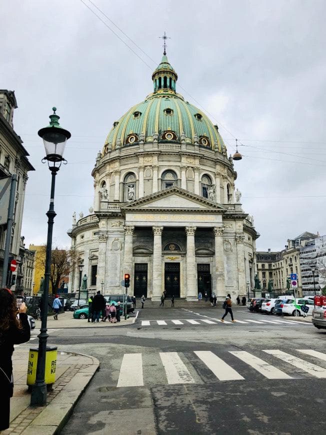
<path id="1" fill-rule="evenodd" d="M 300 322 L 300 321 L 296 321 L 296 320 L 253 320 L 251 318 L 246 318 L 243 320 L 237 320 L 235 319 L 234 322 L 231 322 L 230 320 L 224 320 L 223 322 L 219 319 L 219 318 L 196 318 L 196 319 L 192 319 L 192 318 L 182 318 L 182 319 L 164 319 L 164 320 L 141 320 L 141 326 L 173 326 L 173 325 L 193 325 L 193 326 L 198 326 L 198 325 L 213 325 L 213 324 L 219 324 L 219 325 L 224 325 L 224 324 L 266 324 L 266 325 L 279 325 L 279 326 L 283 326 L 283 325 L 287 325 L 287 326 L 293 326 L 293 325 L 301 325 L 301 326 L 311 326 L 310 323 L 304 323 L 304 322 Z"/>

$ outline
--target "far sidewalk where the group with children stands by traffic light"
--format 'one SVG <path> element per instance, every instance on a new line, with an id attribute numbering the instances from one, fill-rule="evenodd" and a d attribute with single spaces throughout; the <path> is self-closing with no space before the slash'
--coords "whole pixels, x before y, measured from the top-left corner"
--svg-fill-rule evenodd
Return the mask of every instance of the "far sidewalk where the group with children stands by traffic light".
<path id="1" fill-rule="evenodd" d="M 121 316 L 120 321 L 116 323 L 111 323 L 110 321 L 99 321 L 98 323 L 92 323 L 87 321 L 87 319 L 81 318 L 73 318 L 72 311 L 64 311 L 58 314 L 57 320 L 54 320 L 52 315 L 47 317 L 47 328 L 97 328 L 97 327 L 117 327 L 117 326 L 126 326 L 135 322 L 137 313 L 130 313 L 129 318 L 124 320 L 124 317 Z M 35 319 L 35 329 L 40 329 L 40 320 Z"/>

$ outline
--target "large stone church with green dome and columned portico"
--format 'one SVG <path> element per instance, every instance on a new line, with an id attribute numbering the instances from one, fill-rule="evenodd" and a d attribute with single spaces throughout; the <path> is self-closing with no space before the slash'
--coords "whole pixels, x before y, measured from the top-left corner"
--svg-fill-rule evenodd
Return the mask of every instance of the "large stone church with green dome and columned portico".
<path id="1" fill-rule="evenodd" d="M 217 125 L 176 92 L 177 73 L 165 50 L 152 73 L 153 92 L 113 122 L 94 178 L 94 204 L 68 230 L 83 262 L 89 292 L 152 300 L 196 300 L 198 293 L 253 287 L 253 218 L 241 208 L 236 171 Z M 237 154 L 240 155 L 240 154 Z"/>

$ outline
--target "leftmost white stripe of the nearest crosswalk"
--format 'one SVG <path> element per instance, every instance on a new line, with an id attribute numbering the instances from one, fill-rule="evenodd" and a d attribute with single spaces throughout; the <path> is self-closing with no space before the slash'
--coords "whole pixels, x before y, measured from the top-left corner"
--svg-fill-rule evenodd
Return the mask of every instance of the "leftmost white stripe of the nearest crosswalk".
<path id="1" fill-rule="evenodd" d="M 141 353 L 124 353 L 116 386 L 142 386 Z"/>

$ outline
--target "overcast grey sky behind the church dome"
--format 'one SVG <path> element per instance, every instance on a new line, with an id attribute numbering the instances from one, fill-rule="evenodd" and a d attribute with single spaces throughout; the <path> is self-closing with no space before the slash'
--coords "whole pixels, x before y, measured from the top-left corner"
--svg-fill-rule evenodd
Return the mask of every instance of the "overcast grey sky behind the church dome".
<path id="1" fill-rule="evenodd" d="M 26 245 L 46 241 L 50 172 L 37 131 L 51 107 L 71 132 L 53 228 L 53 245 L 67 247 L 72 212 L 85 215 L 93 203 L 91 170 L 113 121 L 152 91 L 164 31 L 177 91 L 218 123 L 228 153 L 241 142 L 235 185 L 261 234 L 257 249 L 326 233 L 325 1 L 92 0 L 125 34 L 82 1 L 0 5 L 0 87 L 15 91 L 14 129 L 35 167 Z"/>

